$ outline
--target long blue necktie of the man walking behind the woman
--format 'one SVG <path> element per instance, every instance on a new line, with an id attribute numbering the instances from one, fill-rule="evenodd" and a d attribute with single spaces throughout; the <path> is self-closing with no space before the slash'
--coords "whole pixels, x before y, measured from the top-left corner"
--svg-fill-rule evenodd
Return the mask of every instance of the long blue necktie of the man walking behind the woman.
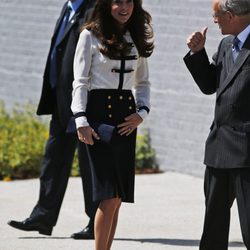
<path id="1" fill-rule="evenodd" d="M 58 31 L 58 34 L 57 34 L 57 37 L 56 37 L 56 42 L 54 44 L 54 47 L 53 47 L 53 49 L 51 51 L 51 55 L 50 55 L 49 81 L 50 81 L 50 85 L 51 85 L 52 88 L 55 88 L 56 84 L 57 84 L 56 47 L 57 47 L 59 41 L 61 40 L 61 38 L 63 36 L 65 28 L 67 27 L 71 11 L 72 11 L 71 7 L 68 6 L 67 10 L 65 12 L 63 21 L 61 23 L 60 29 Z"/>

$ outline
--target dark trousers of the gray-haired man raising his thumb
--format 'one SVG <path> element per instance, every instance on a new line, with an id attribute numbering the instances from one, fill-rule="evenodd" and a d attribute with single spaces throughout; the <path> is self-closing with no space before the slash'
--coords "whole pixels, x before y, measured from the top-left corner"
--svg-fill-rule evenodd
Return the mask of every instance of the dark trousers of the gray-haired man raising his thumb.
<path id="1" fill-rule="evenodd" d="M 237 201 L 241 233 L 250 249 L 250 168 L 206 167 L 204 193 L 206 212 L 200 250 L 227 250 L 230 209 Z"/>

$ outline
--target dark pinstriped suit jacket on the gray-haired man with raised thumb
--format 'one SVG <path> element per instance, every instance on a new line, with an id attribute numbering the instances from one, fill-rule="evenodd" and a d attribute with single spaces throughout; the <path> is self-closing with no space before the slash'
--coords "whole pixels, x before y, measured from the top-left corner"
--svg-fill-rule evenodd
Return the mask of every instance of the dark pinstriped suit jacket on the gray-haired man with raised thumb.
<path id="1" fill-rule="evenodd" d="M 221 41 L 211 64 L 205 49 L 184 57 L 201 91 L 216 93 L 204 160 L 216 168 L 250 167 L 250 36 L 235 62 L 232 40 Z"/>

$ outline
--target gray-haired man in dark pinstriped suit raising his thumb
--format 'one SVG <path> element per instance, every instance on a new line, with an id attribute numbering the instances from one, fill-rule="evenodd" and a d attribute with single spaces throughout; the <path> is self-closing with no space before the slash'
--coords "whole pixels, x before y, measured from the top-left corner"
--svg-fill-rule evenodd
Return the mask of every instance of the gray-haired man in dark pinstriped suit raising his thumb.
<path id="1" fill-rule="evenodd" d="M 187 39 L 184 61 L 205 94 L 216 93 L 206 141 L 206 213 L 200 250 L 228 249 L 230 208 L 237 200 L 243 241 L 250 249 L 250 1 L 214 0 L 222 39 L 210 63 L 207 28 Z"/>

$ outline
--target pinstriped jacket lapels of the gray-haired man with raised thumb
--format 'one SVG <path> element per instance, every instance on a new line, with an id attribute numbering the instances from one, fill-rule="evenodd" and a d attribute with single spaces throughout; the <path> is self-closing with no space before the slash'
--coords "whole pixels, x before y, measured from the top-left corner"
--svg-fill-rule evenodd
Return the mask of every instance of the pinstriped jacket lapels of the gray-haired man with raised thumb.
<path id="1" fill-rule="evenodd" d="M 226 53 L 227 55 L 227 63 L 230 64 L 229 60 L 232 61 L 232 41 L 229 42 L 226 48 Z M 229 54 L 231 54 L 229 56 Z M 225 90 L 225 88 L 230 84 L 230 82 L 232 81 L 232 79 L 234 78 L 234 76 L 236 75 L 236 73 L 239 71 L 239 69 L 242 67 L 242 65 L 244 64 L 244 62 L 246 61 L 246 59 L 248 58 L 248 56 L 250 55 L 250 35 L 248 36 L 246 42 L 244 43 L 241 51 L 239 52 L 239 55 L 237 56 L 235 62 L 233 63 L 233 65 L 231 65 L 231 67 L 229 68 L 228 71 L 228 75 L 225 78 L 225 80 L 222 82 L 218 92 L 217 92 L 217 98 L 219 98 L 219 96 L 222 94 L 222 92 Z M 231 57 L 231 59 L 230 59 Z M 226 65 L 224 65 L 226 66 Z"/>

